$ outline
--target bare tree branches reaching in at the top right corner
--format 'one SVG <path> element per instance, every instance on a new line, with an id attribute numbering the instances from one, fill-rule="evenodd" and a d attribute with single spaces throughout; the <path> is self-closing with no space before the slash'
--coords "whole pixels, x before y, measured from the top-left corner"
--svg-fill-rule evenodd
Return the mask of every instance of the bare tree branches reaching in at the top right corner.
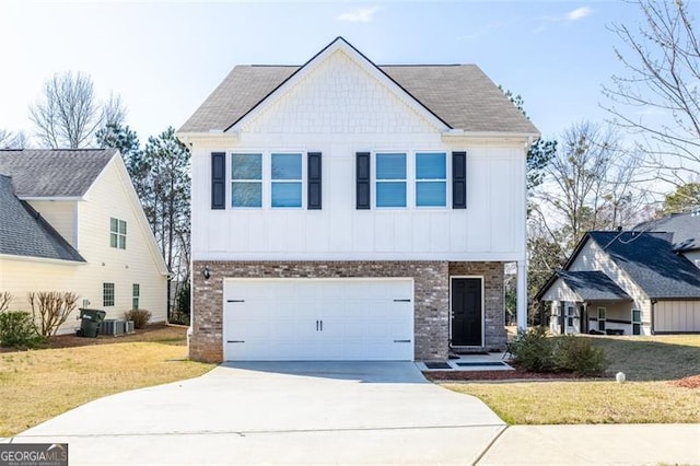
<path id="1" fill-rule="evenodd" d="M 655 176 L 677 186 L 700 174 L 700 43 L 689 3 L 634 0 L 645 20 L 610 30 L 627 75 L 604 86 L 615 124 L 634 132 Z"/>

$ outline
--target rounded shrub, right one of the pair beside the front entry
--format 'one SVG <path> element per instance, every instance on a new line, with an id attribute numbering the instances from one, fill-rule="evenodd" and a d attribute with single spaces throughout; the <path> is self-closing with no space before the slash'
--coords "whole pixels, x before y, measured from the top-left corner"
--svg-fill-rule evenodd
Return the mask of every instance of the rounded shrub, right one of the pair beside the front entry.
<path id="1" fill-rule="evenodd" d="M 597 375 L 607 368 L 603 349 L 595 348 L 587 338 L 571 335 L 555 339 L 552 360 L 558 371 L 580 375 Z"/>

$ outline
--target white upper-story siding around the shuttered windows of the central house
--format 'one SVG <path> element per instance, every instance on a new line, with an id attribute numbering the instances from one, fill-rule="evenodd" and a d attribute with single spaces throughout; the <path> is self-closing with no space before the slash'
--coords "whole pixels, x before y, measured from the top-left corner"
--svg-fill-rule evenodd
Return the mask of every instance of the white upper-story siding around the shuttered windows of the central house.
<path id="1" fill-rule="evenodd" d="M 188 137 L 192 150 L 192 258 L 195 260 L 495 260 L 525 259 L 526 139 L 459 142 L 444 125 L 337 51 L 262 108 L 234 133 Z M 452 153 L 466 151 L 466 209 L 452 208 Z M 211 154 L 225 152 L 225 209 L 211 209 Z M 322 199 L 307 209 L 232 209 L 231 154 L 322 155 Z M 357 208 L 357 153 L 371 155 L 371 208 Z M 376 208 L 375 153 L 444 152 L 446 206 Z M 265 179 L 264 175 L 264 179 Z M 303 164 L 303 179 L 307 179 Z M 269 185 L 269 180 L 267 182 Z M 269 186 L 267 186 L 269 189 Z M 266 206 L 267 203 L 267 206 Z"/>

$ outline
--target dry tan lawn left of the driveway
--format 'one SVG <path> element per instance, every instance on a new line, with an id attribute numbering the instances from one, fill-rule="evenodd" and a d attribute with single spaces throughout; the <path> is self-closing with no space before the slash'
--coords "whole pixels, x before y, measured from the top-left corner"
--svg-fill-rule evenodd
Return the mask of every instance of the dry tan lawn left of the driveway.
<path id="1" fill-rule="evenodd" d="M 147 333 L 149 341 L 100 338 L 90 346 L 0 353 L 0 436 L 106 395 L 208 372 L 212 364 L 185 360 L 185 331 L 168 327 Z"/>

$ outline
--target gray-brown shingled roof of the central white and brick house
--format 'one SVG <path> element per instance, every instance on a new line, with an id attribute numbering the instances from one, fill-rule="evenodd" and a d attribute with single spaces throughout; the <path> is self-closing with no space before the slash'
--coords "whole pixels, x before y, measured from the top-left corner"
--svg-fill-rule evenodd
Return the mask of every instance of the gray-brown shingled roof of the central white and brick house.
<path id="1" fill-rule="evenodd" d="M 301 68 L 303 67 L 235 67 L 178 132 L 228 129 Z M 465 131 L 539 133 L 476 65 L 377 68 L 452 128 Z"/>

